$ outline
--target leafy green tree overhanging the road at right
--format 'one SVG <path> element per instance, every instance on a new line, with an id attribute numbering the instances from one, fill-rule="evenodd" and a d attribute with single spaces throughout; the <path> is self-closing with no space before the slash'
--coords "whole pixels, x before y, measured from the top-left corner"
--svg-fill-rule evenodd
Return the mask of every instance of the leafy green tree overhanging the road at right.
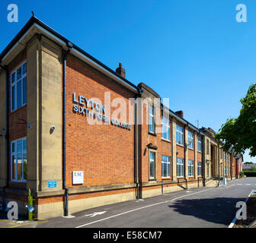
<path id="1" fill-rule="evenodd" d="M 244 99 L 238 118 L 231 118 L 219 129 L 216 139 L 221 140 L 223 150 L 232 147 L 236 153 L 249 150 L 250 156 L 256 156 L 256 84 L 252 84 Z"/>

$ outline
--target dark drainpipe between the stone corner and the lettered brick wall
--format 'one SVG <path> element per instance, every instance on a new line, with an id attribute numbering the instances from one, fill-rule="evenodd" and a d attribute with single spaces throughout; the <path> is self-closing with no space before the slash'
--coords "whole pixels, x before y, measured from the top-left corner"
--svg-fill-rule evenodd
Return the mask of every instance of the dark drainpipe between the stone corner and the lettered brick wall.
<path id="1" fill-rule="evenodd" d="M 69 188 L 66 188 L 66 57 L 72 49 L 72 43 L 67 43 L 69 48 L 63 52 L 63 186 L 65 190 L 65 216 L 69 216 Z"/>

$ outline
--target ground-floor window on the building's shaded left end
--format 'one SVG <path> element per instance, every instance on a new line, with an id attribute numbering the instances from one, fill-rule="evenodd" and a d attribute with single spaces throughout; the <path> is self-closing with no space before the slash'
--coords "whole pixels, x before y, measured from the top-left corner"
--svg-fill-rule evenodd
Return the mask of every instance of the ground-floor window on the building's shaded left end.
<path id="1" fill-rule="evenodd" d="M 11 142 L 11 181 L 27 180 L 27 138 Z"/>

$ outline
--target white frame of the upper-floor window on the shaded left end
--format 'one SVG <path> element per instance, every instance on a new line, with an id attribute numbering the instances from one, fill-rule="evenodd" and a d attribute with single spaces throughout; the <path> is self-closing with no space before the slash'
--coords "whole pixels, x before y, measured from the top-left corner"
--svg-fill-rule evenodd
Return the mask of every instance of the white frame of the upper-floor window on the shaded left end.
<path id="1" fill-rule="evenodd" d="M 23 99 L 24 99 L 24 93 L 23 93 L 23 80 L 24 78 L 26 77 L 27 79 L 27 70 L 26 70 L 26 73 L 25 74 L 22 74 L 23 72 L 23 65 L 26 64 L 26 67 L 27 67 L 27 61 L 24 61 L 21 63 L 21 65 L 19 65 L 17 68 L 14 69 L 14 71 L 11 72 L 11 75 L 10 75 L 10 84 L 11 84 L 11 112 L 14 112 L 15 110 L 17 109 L 20 109 L 21 107 L 27 105 L 27 97 L 26 97 L 26 103 L 23 103 Z M 19 80 L 16 80 L 17 78 L 17 71 L 18 69 L 21 68 L 21 78 Z M 26 68 L 27 69 L 27 68 Z M 15 75 L 15 80 L 14 82 L 12 83 L 12 74 Z M 21 81 L 21 107 L 17 108 L 17 84 L 18 82 Z M 12 87 L 15 87 L 15 99 L 14 99 L 14 103 L 15 103 L 15 106 L 14 106 L 14 109 L 13 109 L 13 102 L 12 102 Z M 27 88 L 27 80 L 26 80 L 26 88 Z M 26 92 L 26 95 L 27 95 L 27 92 Z"/>

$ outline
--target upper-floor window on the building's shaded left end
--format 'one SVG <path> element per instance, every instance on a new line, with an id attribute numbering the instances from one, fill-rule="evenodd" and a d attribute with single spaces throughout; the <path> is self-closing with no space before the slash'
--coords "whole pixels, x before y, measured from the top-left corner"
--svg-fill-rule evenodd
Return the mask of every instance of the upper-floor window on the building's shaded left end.
<path id="1" fill-rule="evenodd" d="M 27 62 L 11 73 L 11 112 L 27 104 Z"/>

